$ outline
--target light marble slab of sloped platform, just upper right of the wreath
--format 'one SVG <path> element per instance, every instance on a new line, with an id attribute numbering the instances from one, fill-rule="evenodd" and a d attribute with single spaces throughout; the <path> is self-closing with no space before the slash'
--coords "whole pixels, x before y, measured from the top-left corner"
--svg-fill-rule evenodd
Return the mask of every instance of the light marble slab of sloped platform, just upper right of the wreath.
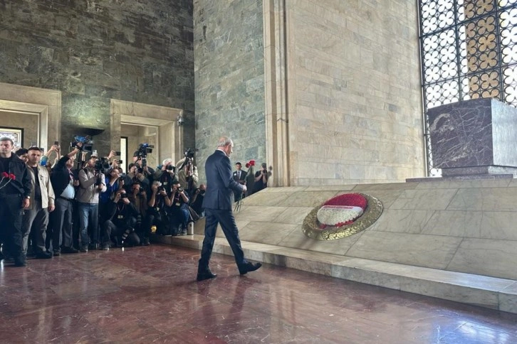
<path id="1" fill-rule="evenodd" d="M 404 190 L 390 209 L 444 210 L 456 189 Z"/>

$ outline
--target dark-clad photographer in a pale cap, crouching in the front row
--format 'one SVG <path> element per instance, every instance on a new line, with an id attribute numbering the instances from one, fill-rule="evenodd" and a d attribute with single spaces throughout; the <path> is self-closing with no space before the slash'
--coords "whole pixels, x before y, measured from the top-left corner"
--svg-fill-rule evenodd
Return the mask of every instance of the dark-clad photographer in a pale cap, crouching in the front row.
<path id="1" fill-rule="evenodd" d="M 167 196 L 165 188 L 159 181 L 152 182 L 151 195 L 147 205 L 147 215 L 143 226 L 145 230 L 151 230 L 152 225 L 156 225 L 157 234 L 170 235 L 169 217 L 166 209 L 171 205 L 170 198 Z"/>

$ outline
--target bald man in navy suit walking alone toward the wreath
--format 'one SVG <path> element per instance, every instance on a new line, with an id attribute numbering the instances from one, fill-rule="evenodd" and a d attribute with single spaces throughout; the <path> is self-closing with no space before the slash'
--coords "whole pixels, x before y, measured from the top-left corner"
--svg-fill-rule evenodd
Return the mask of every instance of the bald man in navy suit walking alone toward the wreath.
<path id="1" fill-rule="evenodd" d="M 232 190 L 238 193 L 246 191 L 246 186 L 234 181 L 231 175 L 229 156 L 233 153 L 233 148 L 233 141 L 226 136 L 222 136 L 219 139 L 216 151 L 207 158 L 204 165 L 205 175 L 207 176 L 207 193 L 204 195 L 203 207 L 207 220 L 204 226 L 203 248 L 197 269 L 197 281 L 212 279 L 217 276 L 211 273 L 208 264 L 219 223 L 231 250 L 234 252 L 239 273 L 243 275 L 262 266 L 261 263 L 252 264 L 244 259 L 239 230 L 235 224 L 234 214 L 231 212 Z"/>

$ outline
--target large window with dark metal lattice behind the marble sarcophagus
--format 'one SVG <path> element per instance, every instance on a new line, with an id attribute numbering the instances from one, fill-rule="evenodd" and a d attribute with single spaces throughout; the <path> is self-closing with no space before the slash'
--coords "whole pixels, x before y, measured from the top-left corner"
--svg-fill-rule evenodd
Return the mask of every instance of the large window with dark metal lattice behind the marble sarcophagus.
<path id="1" fill-rule="evenodd" d="M 476 98 L 517 107 L 517 0 L 419 0 L 427 164 L 427 109 Z"/>

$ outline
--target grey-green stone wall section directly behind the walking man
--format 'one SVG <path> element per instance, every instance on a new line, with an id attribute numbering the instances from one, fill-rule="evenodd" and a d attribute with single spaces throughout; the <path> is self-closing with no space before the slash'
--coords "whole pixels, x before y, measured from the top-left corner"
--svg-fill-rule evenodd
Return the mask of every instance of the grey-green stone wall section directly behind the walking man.
<path id="1" fill-rule="evenodd" d="M 197 166 L 221 135 L 235 163 L 266 158 L 262 1 L 194 0 Z"/>

